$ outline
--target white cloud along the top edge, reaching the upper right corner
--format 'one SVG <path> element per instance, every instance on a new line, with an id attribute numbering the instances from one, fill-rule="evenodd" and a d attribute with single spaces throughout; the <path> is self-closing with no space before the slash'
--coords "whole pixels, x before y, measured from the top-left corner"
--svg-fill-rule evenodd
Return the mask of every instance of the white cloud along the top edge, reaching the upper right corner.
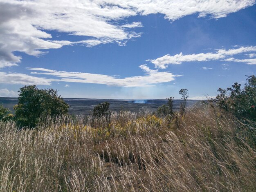
<path id="1" fill-rule="evenodd" d="M 210 15 L 211 18 L 221 18 L 255 3 L 254 0 L 106 0 L 105 2 L 135 9 L 142 15 L 162 13 L 169 20 L 177 20 L 194 13 L 199 13 L 199 17 Z"/>

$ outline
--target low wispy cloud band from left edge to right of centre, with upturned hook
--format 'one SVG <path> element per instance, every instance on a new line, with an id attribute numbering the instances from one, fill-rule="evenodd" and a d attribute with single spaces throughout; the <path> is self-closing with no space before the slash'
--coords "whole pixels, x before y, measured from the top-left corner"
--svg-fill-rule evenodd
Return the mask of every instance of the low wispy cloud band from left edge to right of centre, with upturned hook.
<path id="1" fill-rule="evenodd" d="M 30 74 L 6 73 L 0 72 L 0 83 L 18 84 L 18 85 L 51 85 L 53 82 L 71 82 L 71 83 L 94 83 L 117 87 L 149 87 L 159 83 L 167 83 L 175 80 L 170 72 L 159 72 L 152 70 L 146 65 L 139 66 L 146 73 L 144 76 L 131 76 L 120 78 L 118 75 L 103 75 L 81 72 L 56 71 L 44 68 L 27 68 L 31 70 Z M 37 77 L 43 75 L 43 77 Z M 47 78 L 52 76 L 53 78 Z M 65 87 L 70 85 L 66 84 Z"/>

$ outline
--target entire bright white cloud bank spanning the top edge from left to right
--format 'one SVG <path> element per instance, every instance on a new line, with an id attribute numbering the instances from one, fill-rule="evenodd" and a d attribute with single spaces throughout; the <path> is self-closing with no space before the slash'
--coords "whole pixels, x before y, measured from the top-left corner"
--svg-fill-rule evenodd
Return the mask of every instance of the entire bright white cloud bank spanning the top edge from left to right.
<path id="1" fill-rule="evenodd" d="M 88 47 L 110 42 L 119 45 L 140 36 L 131 31 L 140 22 L 120 25 L 119 20 L 136 15 L 162 13 L 177 20 L 198 13 L 221 18 L 252 6 L 255 0 L 0 0 L 0 68 L 21 61 L 14 51 L 40 56 L 43 50 L 83 43 Z M 79 42 L 56 41 L 45 32 L 59 31 L 84 36 Z"/>

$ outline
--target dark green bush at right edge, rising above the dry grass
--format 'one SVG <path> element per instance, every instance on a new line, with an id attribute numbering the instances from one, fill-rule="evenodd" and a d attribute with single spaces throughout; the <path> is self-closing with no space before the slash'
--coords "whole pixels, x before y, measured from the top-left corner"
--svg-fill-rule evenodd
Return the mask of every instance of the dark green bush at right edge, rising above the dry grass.
<path id="1" fill-rule="evenodd" d="M 237 118 L 256 120 L 256 76 L 248 76 L 245 87 L 234 83 L 227 89 L 219 88 L 216 96 L 217 105 L 228 112 L 233 113 Z"/>

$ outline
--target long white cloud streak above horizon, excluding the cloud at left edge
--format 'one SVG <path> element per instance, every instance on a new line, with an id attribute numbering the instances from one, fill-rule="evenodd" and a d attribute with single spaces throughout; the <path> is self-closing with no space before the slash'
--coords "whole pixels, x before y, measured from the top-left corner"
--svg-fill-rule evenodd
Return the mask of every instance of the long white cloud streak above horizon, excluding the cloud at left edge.
<path id="1" fill-rule="evenodd" d="M 175 77 L 179 75 L 174 75 L 170 72 L 158 72 L 150 71 L 146 72 L 144 76 L 132 76 L 126 78 L 116 78 L 116 76 L 108 76 L 102 74 L 90 74 L 90 73 L 79 73 L 79 72 L 67 72 L 67 71 L 55 71 L 51 69 L 44 68 L 27 68 L 36 72 L 31 72 L 32 74 L 49 75 L 54 76 L 58 79 L 49 79 L 49 82 L 53 81 L 63 81 L 72 83 L 95 83 L 118 87 L 147 87 L 154 86 L 158 83 L 167 83 L 175 80 Z M 40 72 L 38 72 L 40 71 Z M 48 79 L 47 79 L 48 80 Z"/>

